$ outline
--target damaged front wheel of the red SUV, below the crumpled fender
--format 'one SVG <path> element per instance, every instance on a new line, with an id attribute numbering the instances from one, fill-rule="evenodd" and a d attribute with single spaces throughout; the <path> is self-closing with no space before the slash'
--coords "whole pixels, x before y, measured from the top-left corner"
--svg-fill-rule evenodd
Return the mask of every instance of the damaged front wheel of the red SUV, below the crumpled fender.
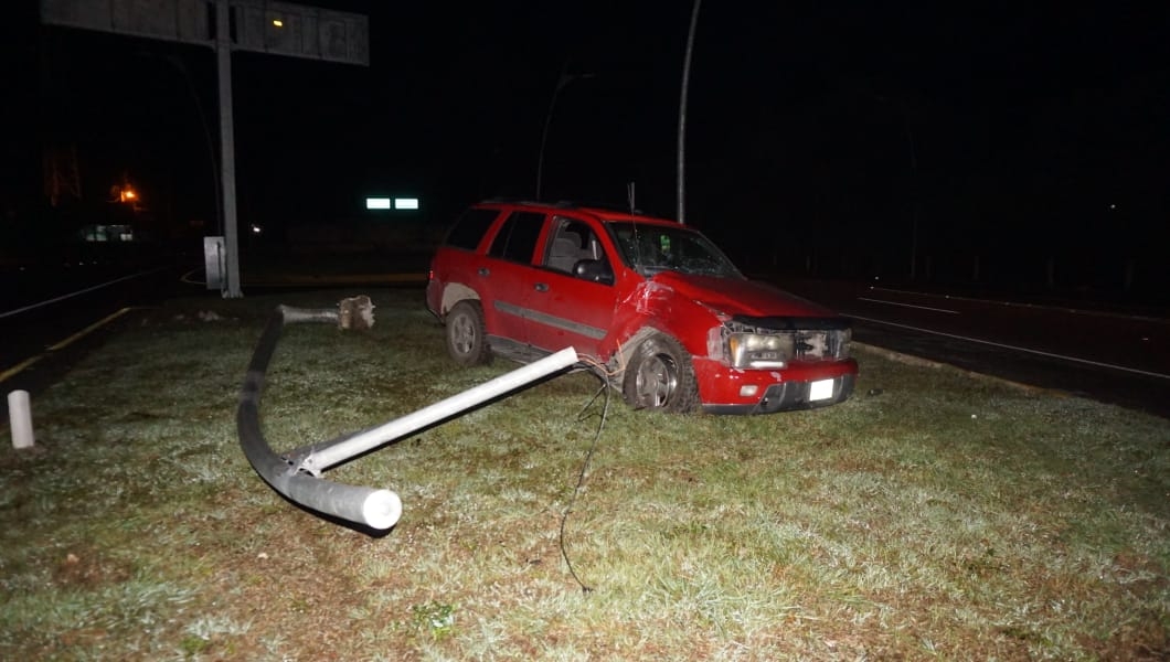
<path id="1" fill-rule="evenodd" d="M 693 412 L 698 405 L 698 386 L 690 354 L 669 336 L 651 336 L 629 357 L 621 394 L 635 409 Z"/>

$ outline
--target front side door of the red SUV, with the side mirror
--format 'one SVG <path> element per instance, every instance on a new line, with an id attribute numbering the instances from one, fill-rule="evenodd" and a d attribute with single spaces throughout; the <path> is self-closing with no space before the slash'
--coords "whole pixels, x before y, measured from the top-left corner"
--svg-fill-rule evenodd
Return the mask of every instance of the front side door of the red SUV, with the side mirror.
<path id="1" fill-rule="evenodd" d="M 600 358 L 598 345 L 613 322 L 615 288 L 613 256 L 598 239 L 599 229 L 585 219 L 552 218 L 523 304 L 531 345 L 550 352 L 572 346 Z"/>

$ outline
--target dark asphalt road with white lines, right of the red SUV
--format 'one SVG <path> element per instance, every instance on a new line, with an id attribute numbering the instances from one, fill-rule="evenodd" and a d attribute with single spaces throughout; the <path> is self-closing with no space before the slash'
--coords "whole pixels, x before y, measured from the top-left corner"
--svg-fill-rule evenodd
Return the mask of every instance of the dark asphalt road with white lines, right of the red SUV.
<path id="1" fill-rule="evenodd" d="M 783 281 L 853 319 L 866 343 L 1170 419 L 1170 315 Z"/>

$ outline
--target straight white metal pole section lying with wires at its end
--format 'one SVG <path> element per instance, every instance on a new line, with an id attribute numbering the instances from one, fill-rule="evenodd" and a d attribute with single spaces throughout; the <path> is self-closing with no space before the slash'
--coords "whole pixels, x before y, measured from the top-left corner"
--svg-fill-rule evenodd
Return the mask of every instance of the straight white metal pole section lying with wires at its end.
<path id="1" fill-rule="evenodd" d="M 425 428 L 431 423 L 450 418 L 460 412 L 470 409 L 476 405 L 487 402 L 493 398 L 509 393 L 525 384 L 536 381 L 543 377 L 553 374 L 577 363 L 577 350 L 565 347 L 559 352 L 544 357 L 543 359 L 522 366 L 509 373 L 502 374 L 491 381 L 486 381 L 474 388 L 469 388 L 446 400 L 440 400 L 429 407 L 419 409 L 399 419 L 394 419 L 386 425 L 358 433 L 349 439 L 338 441 L 319 450 L 314 450 L 301 463 L 298 469 L 316 474 L 330 467 L 340 464 L 346 460 L 357 457 L 374 448 L 388 443 Z"/>

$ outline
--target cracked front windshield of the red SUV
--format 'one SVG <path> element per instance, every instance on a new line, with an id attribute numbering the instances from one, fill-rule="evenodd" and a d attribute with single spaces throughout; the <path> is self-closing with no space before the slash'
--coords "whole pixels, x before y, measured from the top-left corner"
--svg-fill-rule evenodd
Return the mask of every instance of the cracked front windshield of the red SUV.
<path id="1" fill-rule="evenodd" d="M 684 226 L 612 222 L 610 228 L 626 264 L 642 276 L 677 271 L 743 277 L 718 247 L 701 233 Z"/>

